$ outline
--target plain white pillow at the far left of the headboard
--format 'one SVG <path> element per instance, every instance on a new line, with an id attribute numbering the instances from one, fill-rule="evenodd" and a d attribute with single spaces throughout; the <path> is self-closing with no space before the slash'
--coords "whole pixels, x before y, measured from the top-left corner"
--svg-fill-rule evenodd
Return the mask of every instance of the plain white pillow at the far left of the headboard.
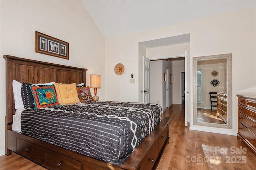
<path id="1" fill-rule="evenodd" d="M 21 93 L 20 93 L 21 83 L 16 80 L 12 80 L 12 90 L 13 90 L 13 96 L 14 96 L 15 109 L 24 108 Z"/>

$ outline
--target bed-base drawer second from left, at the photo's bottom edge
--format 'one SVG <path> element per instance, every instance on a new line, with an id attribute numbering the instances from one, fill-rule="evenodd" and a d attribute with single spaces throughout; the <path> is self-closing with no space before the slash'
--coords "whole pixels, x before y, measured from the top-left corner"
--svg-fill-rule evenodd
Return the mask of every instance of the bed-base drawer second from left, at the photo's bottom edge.
<path id="1" fill-rule="evenodd" d="M 44 164 L 54 170 L 82 170 L 82 162 L 44 149 Z"/>

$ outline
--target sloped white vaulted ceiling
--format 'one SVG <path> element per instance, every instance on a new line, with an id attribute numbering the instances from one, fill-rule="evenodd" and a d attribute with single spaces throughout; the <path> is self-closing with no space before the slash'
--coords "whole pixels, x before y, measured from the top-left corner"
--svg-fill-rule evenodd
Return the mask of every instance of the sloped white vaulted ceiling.
<path id="1" fill-rule="evenodd" d="M 82 0 L 104 38 L 256 6 L 255 0 Z"/>

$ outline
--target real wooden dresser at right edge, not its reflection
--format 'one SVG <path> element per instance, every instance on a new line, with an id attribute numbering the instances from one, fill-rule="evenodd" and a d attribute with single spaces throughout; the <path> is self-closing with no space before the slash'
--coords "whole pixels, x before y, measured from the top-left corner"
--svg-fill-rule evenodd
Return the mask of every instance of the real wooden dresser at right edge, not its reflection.
<path id="1" fill-rule="evenodd" d="M 256 95 L 238 97 L 238 134 L 248 148 L 256 154 Z"/>

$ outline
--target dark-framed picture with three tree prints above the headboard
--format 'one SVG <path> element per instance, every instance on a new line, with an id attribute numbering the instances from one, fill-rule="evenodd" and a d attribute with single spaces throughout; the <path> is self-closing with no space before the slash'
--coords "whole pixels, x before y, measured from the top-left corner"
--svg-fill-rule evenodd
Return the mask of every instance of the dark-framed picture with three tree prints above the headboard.
<path id="1" fill-rule="evenodd" d="M 35 52 L 69 60 L 69 43 L 35 31 Z"/>

